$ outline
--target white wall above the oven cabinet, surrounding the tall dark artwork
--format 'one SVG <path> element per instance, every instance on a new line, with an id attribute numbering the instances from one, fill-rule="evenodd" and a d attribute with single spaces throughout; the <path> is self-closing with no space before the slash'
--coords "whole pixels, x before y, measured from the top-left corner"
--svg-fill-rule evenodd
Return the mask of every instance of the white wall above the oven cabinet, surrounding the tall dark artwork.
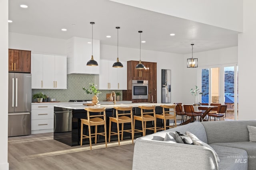
<path id="1" fill-rule="evenodd" d="M 100 45 L 100 58 L 116 60 L 117 47 L 111 45 Z M 120 61 L 130 61 L 140 59 L 140 49 L 118 47 L 118 57 Z M 182 101 L 182 74 L 183 55 L 174 53 L 163 53 L 159 51 L 141 50 L 141 60 L 157 63 L 157 102 L 162 101 L 161 72 L 162 69 L 171 70 L 171 102 Z"/>

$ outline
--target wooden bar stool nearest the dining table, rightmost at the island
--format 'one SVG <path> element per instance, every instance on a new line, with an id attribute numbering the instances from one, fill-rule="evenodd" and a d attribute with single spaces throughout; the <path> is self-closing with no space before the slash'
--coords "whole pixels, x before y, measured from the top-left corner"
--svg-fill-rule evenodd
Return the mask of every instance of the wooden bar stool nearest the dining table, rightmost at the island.
<path id="1" fill-rule="evenodd" d="M 161 129 L 161 130 L 166 130 L 166 127 L 176 127 L 176 105 L 161 105 L 160 107 L 163 108 L 163 113 L 162 114 L 156 114 L 157 119 L 162 119 L 164 122 L 164 127 L 156 127 L 156 129 Z M 168 109 L 166 111 L 165 109 Z M 172 113 L 172 114 L 170 114 Z M 166 125 L 166 120 L 174 120 L 175 125 Z"/>

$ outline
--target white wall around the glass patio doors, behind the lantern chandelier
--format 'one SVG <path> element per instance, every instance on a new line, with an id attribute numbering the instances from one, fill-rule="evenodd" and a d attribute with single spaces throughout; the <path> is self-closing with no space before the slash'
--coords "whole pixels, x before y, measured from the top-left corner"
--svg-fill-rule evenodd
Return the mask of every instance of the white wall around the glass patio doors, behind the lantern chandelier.
<path id="1" fill-rule="evenodd" d="M 194 49 L 196 46 L 194 46 Z M 238 47 L 230 47 L 225 49 L 204 51 L 200 53 L 193 53 L 194 58 L 198 58 L 198 68 L 186 68 L 186 62 L 188 58 L 192 57 L 192 54 L 184 55 L 184 85 L 182 91 L 183 103 L 191 104 L 194 102 L 194 96 L 191 95 L 190 89 L 195 85 L 198 85 L 197 71 L 203 66 L 213 66 L 221 64 L 233 64 L 238 63 Z M 240 70 L 240 68 L 239 68 Z M 239 73 L 240 75 L 240 73 Z M 239 77 L 240 78 L 240 77 Z M 239 84 L 239 92 L 240 92 Z M 240 109 L 240 107 L 239 107 Z M 239 111 L 240 113 L 240 111 Z"/>

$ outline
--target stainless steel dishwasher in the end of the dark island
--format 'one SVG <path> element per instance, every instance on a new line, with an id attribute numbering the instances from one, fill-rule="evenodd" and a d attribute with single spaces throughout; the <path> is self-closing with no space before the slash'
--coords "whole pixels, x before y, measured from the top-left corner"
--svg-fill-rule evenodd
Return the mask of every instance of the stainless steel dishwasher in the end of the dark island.
<path id="1" fill-rule="evenodd" d="M 54 107 L 54 133 L 72 131 L 72 109 Z"/>

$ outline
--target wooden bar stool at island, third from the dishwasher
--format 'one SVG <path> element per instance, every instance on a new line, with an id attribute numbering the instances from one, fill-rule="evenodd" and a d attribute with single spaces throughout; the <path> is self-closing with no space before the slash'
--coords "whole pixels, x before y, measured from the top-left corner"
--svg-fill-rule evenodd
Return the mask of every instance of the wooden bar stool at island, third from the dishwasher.
<path id="1" fill-rule="evenodd" d="M 138 106 L 140 108 L 140 116 L 133 116 L 133 129 L 134 133 L 142 132 L 142 135 L 146 135 L 146 129 L 154 131 L 156 133 L 156 106 Z M 148 112 L 146 112 L 148 111 Z M 135 121 L 141 121 L 142 130 L 135 129 Z M 147 121 L 154 121 L 153 127 L 146 127 Z"/>

